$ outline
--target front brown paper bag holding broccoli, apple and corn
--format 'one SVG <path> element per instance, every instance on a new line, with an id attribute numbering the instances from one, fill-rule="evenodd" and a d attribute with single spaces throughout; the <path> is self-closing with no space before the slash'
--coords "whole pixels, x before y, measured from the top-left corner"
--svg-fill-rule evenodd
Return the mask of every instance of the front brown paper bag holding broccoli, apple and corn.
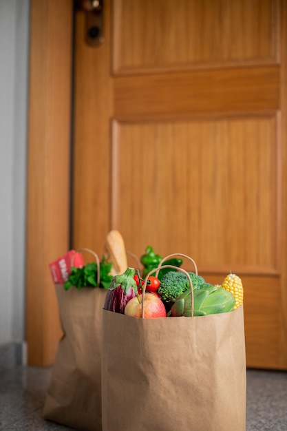
<path id="1" fill-rule="evenodd" d="M 103 310 L 103 431 L 244 431 L 245 358 L 243 306 L 158 319 Z"/>

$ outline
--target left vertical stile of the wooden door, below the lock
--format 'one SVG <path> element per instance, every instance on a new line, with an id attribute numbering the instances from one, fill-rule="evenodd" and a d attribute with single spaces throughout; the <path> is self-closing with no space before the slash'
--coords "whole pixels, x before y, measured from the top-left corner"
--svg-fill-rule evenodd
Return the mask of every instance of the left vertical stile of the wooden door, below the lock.
<path id="1" fill-rule="evenodd" d="M 85 45 L 85 14 L 77 12 L 74 59 L 74 147 L 72 244 L 102 255 L 111 227 L 109 2 L 105 2 L 105 43 Z"/>

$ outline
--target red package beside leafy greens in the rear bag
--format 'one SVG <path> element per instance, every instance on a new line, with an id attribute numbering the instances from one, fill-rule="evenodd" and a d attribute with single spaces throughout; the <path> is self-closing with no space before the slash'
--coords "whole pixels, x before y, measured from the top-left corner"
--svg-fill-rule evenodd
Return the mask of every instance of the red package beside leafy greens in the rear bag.
<path id="1" fill-rule="evenodd" d="M 54 284 L 63 284 L 69 278 L 71 266 L 82 268 L 82 266 L 84 266 L 84 260 L 81 253 L 76 253 L 76 251 L 70 250 L 67 254 L 50 263 L 49 266 Z"/>

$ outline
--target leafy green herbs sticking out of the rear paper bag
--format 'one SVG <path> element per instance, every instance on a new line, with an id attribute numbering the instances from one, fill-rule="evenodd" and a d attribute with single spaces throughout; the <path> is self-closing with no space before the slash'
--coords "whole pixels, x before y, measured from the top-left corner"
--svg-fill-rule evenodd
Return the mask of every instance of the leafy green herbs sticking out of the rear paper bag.
<path id="1" fill-rule="evenodd" d="M 100 285 L 102 288 L 109 288 L 113 276 L 109 275 L 111 263 L 106 262 L 105 256 L 100 262 Z M 83 287 L 97 287 L 98 266 L 96 262 L 91 262 L 82 268 L 72 266 L 68 280 L 64 283 L 64 288 L 68 291 L 72 286 L 81 290 Z"/>

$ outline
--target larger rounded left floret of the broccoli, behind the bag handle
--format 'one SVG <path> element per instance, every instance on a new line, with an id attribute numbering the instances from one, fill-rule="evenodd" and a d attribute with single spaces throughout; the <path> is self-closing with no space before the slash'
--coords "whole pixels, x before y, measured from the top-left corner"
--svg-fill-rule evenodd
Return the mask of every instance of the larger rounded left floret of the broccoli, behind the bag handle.
<path id="1" fill-rule="evenodd" d="M 158 293 L 165 301 L 174 302 L 188 288 L 190 288 L 189 280 L 184 273 L 169 271 L 162 277 Z"/>

